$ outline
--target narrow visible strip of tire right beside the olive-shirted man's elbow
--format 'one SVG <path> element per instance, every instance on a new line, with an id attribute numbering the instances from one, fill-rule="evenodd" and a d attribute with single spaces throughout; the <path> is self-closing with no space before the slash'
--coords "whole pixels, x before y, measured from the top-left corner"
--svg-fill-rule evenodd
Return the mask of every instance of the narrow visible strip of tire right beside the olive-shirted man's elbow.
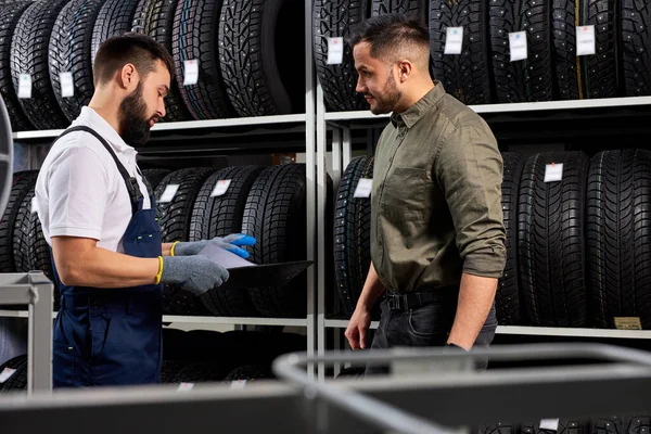
<path id="1" fill-rule="evenodd" d="M 520 285 L 518 283 L 518 193 L 520 178 L 524 168 L 524 158 L 514 152 L 502 153 L 503 180 L 502 214 L 507 239 L 507 264 L 497 286 L 495 308 L 497 322 L 501 326 L 520 326 L 524 321 L 523 303 L 520 299 Z"/>

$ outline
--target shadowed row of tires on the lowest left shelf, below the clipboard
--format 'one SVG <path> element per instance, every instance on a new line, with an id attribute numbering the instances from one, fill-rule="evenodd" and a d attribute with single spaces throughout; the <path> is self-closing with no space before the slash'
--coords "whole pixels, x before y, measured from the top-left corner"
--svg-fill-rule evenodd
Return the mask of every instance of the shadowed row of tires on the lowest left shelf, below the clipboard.
<path id="1" fill-rule="evenodd" d="M 163 329 L 161 381 L 181 384 L 271 380 L 273 359 L 305 349 L 305 336 L 293 333 Z M 26 391 L 27 355 L 0 365 L 2 372 L 0 393 Z"/>

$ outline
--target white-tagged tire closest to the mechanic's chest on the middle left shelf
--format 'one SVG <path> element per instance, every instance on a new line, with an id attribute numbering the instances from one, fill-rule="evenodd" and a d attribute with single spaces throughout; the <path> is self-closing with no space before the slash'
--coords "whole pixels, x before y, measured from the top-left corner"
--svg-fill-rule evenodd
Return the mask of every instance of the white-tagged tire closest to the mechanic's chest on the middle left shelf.
<path id="1" fill-rule="evenodd" d="M 210 168 L 180 169 L 167 175 L 158 183 L 155 190 L 156 197 L 161 197 L 167 186 L 179 186 L 171 202 L 156 205 L 161 239 L 164 243 L 188 240 L 194 201 L 199 190 L 212 173 Z M 166 315 L 209 315 L 196 295 L 183 291 L 177 285 L 165 285 L 163 312 Z"/>

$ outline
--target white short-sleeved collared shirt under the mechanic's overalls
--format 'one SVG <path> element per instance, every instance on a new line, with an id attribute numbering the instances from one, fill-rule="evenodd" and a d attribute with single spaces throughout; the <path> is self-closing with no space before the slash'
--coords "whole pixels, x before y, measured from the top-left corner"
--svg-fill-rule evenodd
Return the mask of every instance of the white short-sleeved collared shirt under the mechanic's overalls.
<path id="1" fill-rule="evenodd" d="M 143 208 L 151 208 L 136 150 L 92 108 L 81 110 L 72 124 L 76 126 L 90 127 L 108 142 L 138 179 Z M 132 216 L 129 193 L 115 161 L 91 133 L 71 132 L 54 143 L 38 174 L 35 197 L 48 244 L 52 245 L 52 237 L 90 238 L 99 247 L 124 253 L 123 237 Z"/>

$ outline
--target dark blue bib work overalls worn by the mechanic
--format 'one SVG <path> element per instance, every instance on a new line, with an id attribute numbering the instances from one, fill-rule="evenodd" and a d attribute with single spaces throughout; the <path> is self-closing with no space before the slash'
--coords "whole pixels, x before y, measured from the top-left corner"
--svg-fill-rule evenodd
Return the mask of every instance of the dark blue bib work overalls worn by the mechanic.
<path id="1" fill-rule="evenodd" d="M 161 256 L 161 230 L 153 195 L 151 209 L 143 209 L 143 196 L 136 178 L 129 176 L 106 140 L 88 127 L 69 128 L 59 138 L 73 131 L 97 137 L 125 180 L 132 207 L 123 238 L 125 254 Z M 54 387 L 159 383 L 162 285 L 113 290 L 65 286 L 56 272 L 54 258 L 52 263 L 61 291 L 61 309 L 53 333 Z"/>

